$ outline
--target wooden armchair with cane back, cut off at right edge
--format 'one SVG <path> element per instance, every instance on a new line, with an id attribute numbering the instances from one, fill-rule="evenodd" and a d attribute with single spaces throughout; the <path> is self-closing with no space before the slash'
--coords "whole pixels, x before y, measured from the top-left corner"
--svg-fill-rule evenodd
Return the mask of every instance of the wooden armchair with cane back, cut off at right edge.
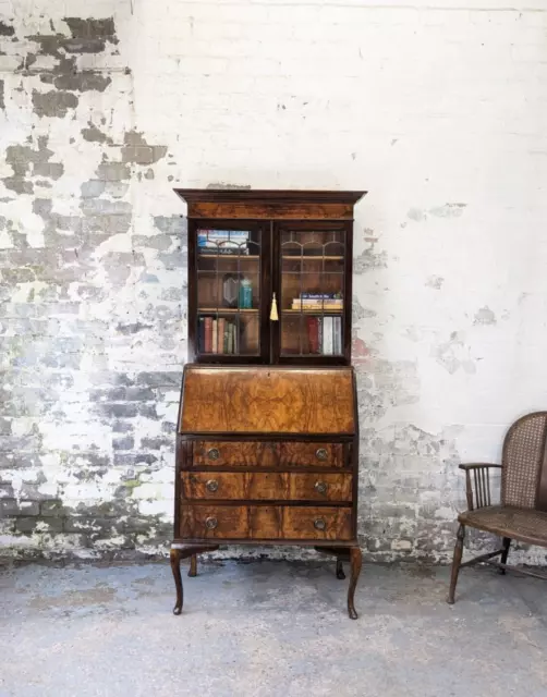
<path id="1" fill-rule="evenodd" d="M 547 412 L 523 416 L 503 441 L 501 465 L 460 465 L 465 472 L 467 511 L 458 516 L 460 527 L 454 548 L 448 602 L 454 602 L 458 574 L 463 566 L 487 562 L 501 573 L 511 540 L 547 547 Z M 501 470 L 501 503 L 493 505 L 490 473 Z M 465 528 L 474 527 L 502 538 L 501 549 L 481 554 L 462 564 Z M 500 561 L 493 558 L 501 557 Z M 547 580 L 545 574 L 519 568 L 519 573 Z"/>

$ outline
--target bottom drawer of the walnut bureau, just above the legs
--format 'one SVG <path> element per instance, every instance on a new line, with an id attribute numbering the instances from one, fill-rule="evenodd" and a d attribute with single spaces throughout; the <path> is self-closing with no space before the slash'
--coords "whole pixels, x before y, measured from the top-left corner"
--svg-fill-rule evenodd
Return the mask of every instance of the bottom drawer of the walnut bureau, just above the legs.
<path id="1" fill-rule="evenodd" d="M 352 509 L 183 503 L 181 537 L 348 541 L 352 539 Z"/>

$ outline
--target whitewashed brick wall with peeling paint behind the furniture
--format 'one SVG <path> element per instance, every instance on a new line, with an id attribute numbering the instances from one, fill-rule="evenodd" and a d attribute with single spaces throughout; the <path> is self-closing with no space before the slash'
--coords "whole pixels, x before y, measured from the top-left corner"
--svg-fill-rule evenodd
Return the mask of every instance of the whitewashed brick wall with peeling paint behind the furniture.
<path id="1" fill-rule="evenodd" d="M 369 189 L 360 530 L 370 558 L 449 557 L 457 464 L 498 460 L 547 383 L 547 12 L 472 4 L 0 0 L 5 553 L 165 549 L 171 188 L 241 184 Z"/>

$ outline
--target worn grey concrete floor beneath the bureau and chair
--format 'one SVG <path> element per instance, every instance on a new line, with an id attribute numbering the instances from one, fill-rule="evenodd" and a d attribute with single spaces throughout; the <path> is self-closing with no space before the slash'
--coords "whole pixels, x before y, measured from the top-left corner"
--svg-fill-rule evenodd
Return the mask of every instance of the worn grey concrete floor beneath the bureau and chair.
<path id="1" fill-rule="evenodd" d="M 364 565 L 360 619 L 333 562 L 0 573 L 0 697 L 547 696 L 546 586 L 464 570 Z"/>

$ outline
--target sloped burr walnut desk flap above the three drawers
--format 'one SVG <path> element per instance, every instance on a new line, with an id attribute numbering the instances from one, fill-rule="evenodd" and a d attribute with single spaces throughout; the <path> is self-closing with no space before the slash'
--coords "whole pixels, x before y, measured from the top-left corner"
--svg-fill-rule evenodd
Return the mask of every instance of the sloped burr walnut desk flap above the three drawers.
<path id="1" fill-rule="evenodd" d="M 355 432 L 353 369 L 186 365 L 180 433 Z"/>

